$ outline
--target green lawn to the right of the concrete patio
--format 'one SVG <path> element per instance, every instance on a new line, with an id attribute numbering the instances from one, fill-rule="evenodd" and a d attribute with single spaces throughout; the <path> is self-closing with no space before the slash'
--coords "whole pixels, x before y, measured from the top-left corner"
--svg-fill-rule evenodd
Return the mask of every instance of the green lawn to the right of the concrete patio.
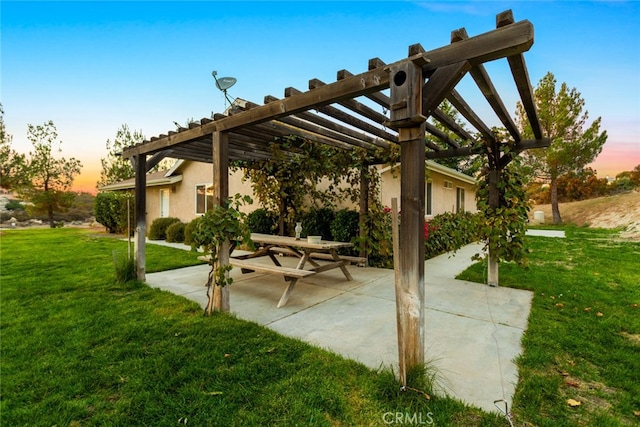
<path id="1" fill-rule="evenodd" d="M 500 267 L 502 286 L 534 292 L 518 360 L 516 425 L 638 425 L 640 243 L 586 228 L 527 241 L 528 270 Z M 459 276 L 483 277 L 479 264 Z"/>

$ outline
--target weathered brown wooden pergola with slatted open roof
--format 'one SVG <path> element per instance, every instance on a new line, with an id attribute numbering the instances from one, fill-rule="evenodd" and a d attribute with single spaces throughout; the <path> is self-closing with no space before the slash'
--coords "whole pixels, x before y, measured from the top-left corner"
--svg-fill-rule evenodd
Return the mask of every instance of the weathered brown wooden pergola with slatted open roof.
<path id="1" fill-rule="evenodd" d="M 486 154 L 490 167 L 490 203 L 497 207 L 497 180 L 517 153 L 549 145 L 540 130 L 533 91 L 523 52 L 533 44 L 533 25 L 514 22 L 511 11 L 496 17 L 496 29 L 468 37 L 464 28 L 451 34 L 451 44 L 425 51 L 409 47 L 407 58 L 392 64 L 369 60 L 368 71 L 337 73 L 337 81 L 309 81 L 309 90 L 285 89 L 284 98 L 266 96 L 264 105 L 247 104 L 229 115 L 215 115 L 127 147 L 122 156 L 134 161 L 136 170 L 135 254 L 138 278 L 145 277 L 146 172 L 164 157 L 212 163 L 214 200 L 220 204 L 228 194 L 228 168 L 233 160 L 268 159 L 275 138 L 295 135 L 307 140 L 353 150 L 360 147 L 373 155 L 379 148 L 400 147 L 402 206 L 399 254 L 399 333 L 406 345 L 401 355 L 407 366 L 424 361 L 424 199 L 425 159 Z M 534 139 L 522 139 L 497 93 L 484 64 L 506 58 L 520 101 L 528 116 Z M 500 140 L 456 90 L 469 73 L 509 134 Z M 387 91 L 389 95 L 383 91 Z M 360 98 L 363 102 L 358 100 Z M 366 98 L 367 101 L 364 101 Z M 447 99 L 476 130 L 467 132 L 444 114 L 439 106 Z M 383 114 L 369 105 L 382 107 Z M 434 118 L 458 138 L 427 123 Z M 443 142 L 434 144 L 431 135 Z M 475 136 L 474 136 L 475 135 Z M 446 148 L 443 148 L 446 147 Z M 508 147 L 508 150 L 505 148 Z M 364 183 L 363 185 L 367 185 Z M 366 194 L 366 191 L 361 192 Z M 366 210 L 366 200 L 361 210 Z M 221 254 L 228 256 L 228 249 Z M 224 256 L 224 255 L 223 255 Z M 495 261 L 495 260 L 494 260 Z M 221 262 L 228 263 L 228 258 Z M 216 287 L 217 288 L 217 287 Z M 216 309 L 229 309 L 229 287 L 216 289 Z"/>

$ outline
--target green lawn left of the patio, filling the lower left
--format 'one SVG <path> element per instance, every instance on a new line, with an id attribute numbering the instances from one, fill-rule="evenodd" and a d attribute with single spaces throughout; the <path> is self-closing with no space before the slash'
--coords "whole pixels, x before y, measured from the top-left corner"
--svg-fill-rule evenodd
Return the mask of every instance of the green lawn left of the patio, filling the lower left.
<path id="1" fill-rule="evenodd" d="M 389 371 L 116 284 L 114 250 L 126 243 L 86 230 L 2 232 L 0 425 L 508 425 L 453 399 L 400 392 Z M 147 249 L 149 272 L 195 262 Z M 412 384 L 430 393 L 428 381 Z"/>

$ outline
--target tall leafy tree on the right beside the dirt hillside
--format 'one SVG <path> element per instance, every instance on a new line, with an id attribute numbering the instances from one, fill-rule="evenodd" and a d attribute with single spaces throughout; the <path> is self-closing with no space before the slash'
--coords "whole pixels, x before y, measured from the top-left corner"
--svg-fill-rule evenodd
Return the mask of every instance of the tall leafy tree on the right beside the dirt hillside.
<path id="1" fill-rule="evenodd" d="M 556 79 L 547 73 L 534 91 L 542 133 L 551 139 L 545 150 L 529 150 L 524 157 L 537 174 L 549 181 L 553 222 L 562 222 L 558 207 L 558 179 L 582 169 L 602 151 L 607 140 L 606 131 L 600 132 L 601 118 L 588 127 L 588 111 L 584 113 L 585 101 L 575 88 L 562 83 L 556 91 Z M 517 105 L 518 124 L 525 138 L 533 137 L 531 125 L 521 103 Z"/>

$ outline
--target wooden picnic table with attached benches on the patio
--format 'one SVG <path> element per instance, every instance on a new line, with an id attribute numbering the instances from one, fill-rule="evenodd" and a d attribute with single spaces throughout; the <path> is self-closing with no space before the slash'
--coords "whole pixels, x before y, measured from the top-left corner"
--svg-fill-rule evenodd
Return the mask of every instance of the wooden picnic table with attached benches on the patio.
<path id="1" fill-rule="evenodd" d="M 309 243 L 306 238 L 296 239 L 295 237 L 260 233 L 252 233 L 251 240 L 253 240 L 259 248 L 250 254 L 232 257 L 229 262 L 231 265 L 241 268 L 243 273 L 256 271 L 284 276 L 285 280 L 289 281 L 289 285 L 278 302 L 278 308 L 287 303 L 289 295 L 298 279 L 339 268 L 347 280 L 353 280 L 346 268 L 350 260 L 338 255 L 338 249 L 352 247 L 352 243 L 328 240 L 321 240 L 319 243 Z M 298 257 L 299 261 L 297 266 L 295 268 L 282 266 L 276 257 L 278 254 L 288 254 Z M 250 261 L 251 259 L 265 256 L 268 256 L 274 265 Z M 328 262 L 320 264 L 318 262 L 319 259 L 324 259 Z M 311 268 L 305 269 L 307 264 L 310 264 Z"/>

